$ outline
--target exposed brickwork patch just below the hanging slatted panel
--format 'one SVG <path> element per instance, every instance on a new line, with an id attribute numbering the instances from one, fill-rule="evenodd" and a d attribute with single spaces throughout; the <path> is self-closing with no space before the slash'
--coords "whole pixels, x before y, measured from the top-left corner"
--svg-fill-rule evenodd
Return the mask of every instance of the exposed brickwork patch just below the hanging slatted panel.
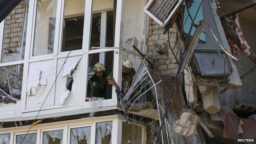
<path id="1" fill-rule="evenodd" d="M 157 41 L 158 44 L 165 49 L 165 46 L 168 46 L 168 34 L 163 34 L 164 28 L 156 23 L 153 19 L 149 19 L 149 39 L 147 41 L 148 45 L 148 55 L 152 58 L 155 58 L 155 65 L 157 66 L 158 71 L 162 75 L 175 75 L 177 71 L 177 64 L 174 58 L 171 49 L 168 47 L 168 53 L 160 55 L 157 53 L 159 50 L 153 44 L 153 41 Z M 176 32 L 175 26 L 169 29 L 169 39 L 170 39 L 170 46 L 174 48 L 174 45 L 178 39 L 178 34 Z M 179 50 L 181 47 L 181 41 L 178 42 L 176 48 L 174 49 L 174 53 L 176 57 L 179 57 Z"/>

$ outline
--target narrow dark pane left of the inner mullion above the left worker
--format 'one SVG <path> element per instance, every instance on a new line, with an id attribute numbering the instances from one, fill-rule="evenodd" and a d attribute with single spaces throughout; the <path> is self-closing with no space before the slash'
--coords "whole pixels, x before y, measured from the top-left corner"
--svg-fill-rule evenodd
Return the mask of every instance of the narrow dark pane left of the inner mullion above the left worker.
<path id="1" fill-rule="evenodd" d="M 99 47 L 100 40 L 101 40 L 101 13 L 92 14 L 90 48 L 92 46 Z"/>

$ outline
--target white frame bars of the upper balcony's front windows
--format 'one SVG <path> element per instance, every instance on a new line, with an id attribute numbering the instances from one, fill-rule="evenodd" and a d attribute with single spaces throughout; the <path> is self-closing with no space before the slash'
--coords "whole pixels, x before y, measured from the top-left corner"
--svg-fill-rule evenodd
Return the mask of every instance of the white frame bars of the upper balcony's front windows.
<path id="1" fill-rule="evenodd" d="M 89 53 L 89 44 L 90 44 L 90 32 L 91 32 L 91 16 L 92 16 L 92 1 L 93 0 L 86 0 L 85 1 L 85 19 L 84 19 L 84 31 L 83 31 L 83 40 L 82 40 L 82 50 L 74 50 L 70 53 L 69 57 L 71 56 L 79 56 L 84 55 L 82 59 L 80 60 L 80 64 L 84 66 L 82 69 L 82 73 L 88 72 L 88 55 L 91 53 L 100 53 L 100 61 L 103 62 L 103 59 L 105 59 L 105 52 L 107 51 L 114 51 L 114 64 L 113 64 L 113 78 L 116 80 L 116 82 L 121 86 L 121 80 L 118 77 L 119 73 L 121 73 L 121 70 L 119 69 L 121 67 L 121 57 L 119 55 L 119 49 L 96 49 L 91 50 Z M 123 11 L 123 5 L 124 0 L 117 0 L 117 11 L 116 11 L 116 25 L 115 25 L 115 39 L 114 39 L 114 47 L 119 47 L 119 40 L 120 40 L 120 26 L 122 21 L 122 11 Z M 33 7 L 34 6 L 34 7 Z M 30 0 L 30 9 L 28 14 L 28 23 L 27 23 L 27 43 L 25 48 L 25 58 L 24 58 L 24 70 L 23 70 L 23 80 L 28 78 L 28 69 L 29 64 L 31 62 L 39 62 L 44 60 L 50 60 L 54 59 L 54 65 L 57 66 L 57 60 L 59 58 L 65 58 L 69 51 L 61 52 L 61 46 L 62 46 L 62 25 L 63 25 L 63 16 L 64 16 L 64 0 L 58 0 L 57 1 L 57 14 L 56 14 L 56 25 L 55 25 L 55 41 L 54 41 L 54 50 L 53 54 L 46 54 L 46 55 L 39 55 L 39 56 L 32 56 L 33 52 L 33 44 L 34 44 L 34 29 L 35 29 L 35 19 L 36 19 L 36 10 L 37 10 L 37 0 Z M 105 9 L 101 12 L 101 21 L 106 21 L 106 12 L 110 11 L 111 9 Z M 104 12 L 105 11 L 105 12 Z M 32 29 L 31 29 L 32 27 Z M 106 23 L 105 25 L 101 25 L 102 33 L 101 33 L 101 41 L 100 45 L 105 46 L 106 42 Z M 56 78 L 56 75 L 53 76 L 53 79 Z M 49 85 L 52 85 L 49 83 Z M 55 113 L 57 109 L 57 112 L 66 112 L 71 110 L 81 110 L 81 109 L 90 109 L 91 105 L 90 102 L 85 102 L 85 98 L 87 95 L 87 76 L 84 76 L 82 79 L 81 85 L 84 86 L 84 89 L 80 90 L 81 101 L 79 103 L 71 103 L 65 106 L 62 105 L 54 105 L 54 98 L 55 96 L 52 96 L 52 103 L 50 106 L 43 107 L 39 115 L 42 114 L 49 114 L 49 113 Z M 32 109 L 26 109 L 26 87 L 27 83 L 23 83 L 22 88 L 22 117 L 29 117 L 37 115 L 37 112 L 40 107 L 32 108 Z M 56 89 L 56 84 L 53 86 L 53 90 Z M 114 92 L 114 87 L 112 88 L 112 99 L 102 100 L 103 106 L 102 107 L 110 107 L 110 106 L 116 106 L 117 105 L 117 97 Z"/>

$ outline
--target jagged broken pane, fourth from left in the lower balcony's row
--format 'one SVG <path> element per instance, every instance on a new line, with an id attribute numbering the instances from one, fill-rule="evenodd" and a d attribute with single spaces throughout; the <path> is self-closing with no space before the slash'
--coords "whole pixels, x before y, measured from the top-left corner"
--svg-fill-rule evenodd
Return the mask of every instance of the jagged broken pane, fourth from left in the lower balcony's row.
<path id="1" fill-rule="evenodd" d="M 91 127 L 72 128 L 70 132 L 70 144 L 90 144 Z"/>

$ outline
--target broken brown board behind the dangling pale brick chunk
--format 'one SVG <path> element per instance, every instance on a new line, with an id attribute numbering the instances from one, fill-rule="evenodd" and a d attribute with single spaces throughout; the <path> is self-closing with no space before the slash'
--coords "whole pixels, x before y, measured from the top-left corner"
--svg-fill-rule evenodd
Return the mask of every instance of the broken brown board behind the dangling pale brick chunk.
<path id="1" fill-rule="evenodd" d="M 159 80 L 157 74 L 152 74 L 152 78 L 154 81 Z M 157 86 L 156 91 L 152 90 L 152 92 L 154 94 L 155 101 L 158 102 L 158 111 L 160 114 L 160 120 L 162 120 L 162 117 L 165 113 L 165 105 L 171 92 L 170 87 L 172 87 L 174 80 L 173 77 L 169 75 L 160 75 L 160 79 L 162 80 L 162 83 Z M 165 139 L 164 143 L 168 144 L 169 141 L 173 144 L 192 144 L 196 140 L 197 143 L 201 144 L 201 139 L 197 130 L 195 130 L 195 133 L 189 137 L 184 137 L 183 135 L 180 135 L 172 130 L 175 122 L 181 117 L 186 109 L 186 104 L 181 89 L 181 83 L 182 79 L 178 78 L 176 87 L 174 88 L 174 92 L 171 97 L 173 102 L 170 103 L 167 110 L 167 117 L 165 118 L 162 128 L 162 135 Z M 155 97 L 155 95 L 157 95 L 157 97 Z"/>

